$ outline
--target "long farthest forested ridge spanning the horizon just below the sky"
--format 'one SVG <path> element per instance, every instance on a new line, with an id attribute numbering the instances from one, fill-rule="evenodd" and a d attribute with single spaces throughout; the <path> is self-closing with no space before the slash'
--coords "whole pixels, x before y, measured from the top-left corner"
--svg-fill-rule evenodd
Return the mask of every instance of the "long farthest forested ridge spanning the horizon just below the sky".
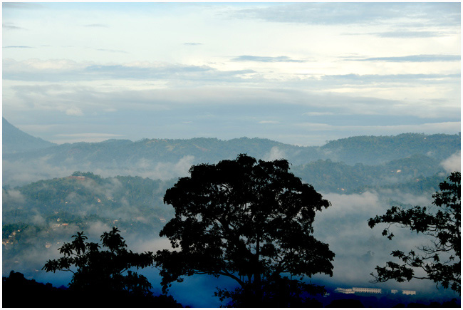
<path id="1" fill-rule="evenodd" d="M 443 160 L 461 148 L 461 135 L 424 135 L 405 133 L 396 136 L 361 136 L 334 140 L 321 147 L 301 147 L 261 138 L 217 138 L 106 140 L 101 143 L 66 143 L 34 152 L 5 155 L 4 159 L 30 160 L 50 157 L 54 163 L 67 160 L 91 162 L 93 165 L 130 165 L 137 160 L 176 162 L 184 156 L 193 156 L 195 162 L 218 162 L 240 153 L 270 160 L 284 157 L 293 165 L 314 160 L 376 165 L 411 155 L 427 155 Z"/>

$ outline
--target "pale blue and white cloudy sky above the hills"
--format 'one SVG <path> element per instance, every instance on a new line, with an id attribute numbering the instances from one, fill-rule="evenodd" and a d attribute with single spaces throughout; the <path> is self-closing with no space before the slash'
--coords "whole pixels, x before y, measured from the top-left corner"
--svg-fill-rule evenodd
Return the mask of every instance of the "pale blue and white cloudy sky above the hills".
<path id="1" fill-rule="evenodd" d="M 460 6 L 4 2 L 2 114 L 54 143 L 455 134 Z"/>

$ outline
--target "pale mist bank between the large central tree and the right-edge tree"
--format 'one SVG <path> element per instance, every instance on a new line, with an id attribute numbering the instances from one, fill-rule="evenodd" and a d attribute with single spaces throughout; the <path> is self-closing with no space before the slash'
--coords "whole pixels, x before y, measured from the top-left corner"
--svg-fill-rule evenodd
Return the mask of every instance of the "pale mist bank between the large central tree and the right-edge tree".
<path id="1" fill-rule="evenodd" d="M 430 193 L 431 197 L 432 193 Z M 323 194 L 331 202 L 331 207 L 317 213 L 313 223 L 314 236 L 321 242 L 329 244 L 335 253 L 333 262 L 333 277 L 323 275 L 312 277 L 316 281 L 325 281 L 340 286 L 370 286 L 368 281 L 375 271 L 375 266 L 384 266 L 385 262 L 394 261 L 390 257 L 392 250 L 409 251 L 430 240 L 422 234 L 412 234 L 410 229 L 392 226 L 395 237 L 392 240 L 382 235 L 386 224 L 379 224 L 371 229 L 368 219 L 385 214 L 391 207 L 390 201 L 412 203 L 413 205 L 430 203 L 430 197 L 415 196 L 402 193 L 400 190 L 383 192 L 364 192 L 362 194 L 340 195 Z M 355 227 L 355 229 L 353 229 Z M 417 291 L 432 291 L 435 289 L 432 281 L 412 281 L 405 284 L 388 281 L 379 288 L 416 289 Z"/>

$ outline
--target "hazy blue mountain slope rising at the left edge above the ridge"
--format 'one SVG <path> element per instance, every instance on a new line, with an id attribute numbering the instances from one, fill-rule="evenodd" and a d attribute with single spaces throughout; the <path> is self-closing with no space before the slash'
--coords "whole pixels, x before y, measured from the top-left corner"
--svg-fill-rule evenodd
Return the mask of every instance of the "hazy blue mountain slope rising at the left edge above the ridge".
<path id="1" fill-rule="evenodd" d="M 19 153 L 48 148 L 54 143 L 33 137 L 11 125 L 5 118 L 2 120 L 2 151 L 4 154 Z"/>

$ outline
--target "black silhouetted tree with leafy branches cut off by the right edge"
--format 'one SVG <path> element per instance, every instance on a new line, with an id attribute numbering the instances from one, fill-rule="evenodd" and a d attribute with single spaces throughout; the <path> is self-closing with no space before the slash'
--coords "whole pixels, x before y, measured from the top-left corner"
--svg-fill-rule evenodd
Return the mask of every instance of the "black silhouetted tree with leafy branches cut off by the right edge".
<path id="1" fill-rule="evenodd" d="M 461 281 L 461 176 L 460 172 L 452 172 L 447 177 L 449 182 L 439 184 L 433 205 L 437 208 L 391 207 L 385 215 L 376 216 L 368 221 L 370 227 L 379 223 L 388 223 L 383 235 L 392 239 L 390 232 L 392 224 L 400 224 L 417 233 L 426 234 L 432 238 L 431 245 L 418 247 L 420 253 L 410 251 L 393 251 L 392 256 L 402 261 L 387 262 L 385 267 L 377 266 L 377 274 L 373 274 L 373 282 L 384 282 L 389 279 L 396 281 L 410 281 L 411 279 L 430 279 L 444 288 L 450 287 L 460 293 Z M 415 269 L 422 269 L 426 277 L 415 276 Z"/>

